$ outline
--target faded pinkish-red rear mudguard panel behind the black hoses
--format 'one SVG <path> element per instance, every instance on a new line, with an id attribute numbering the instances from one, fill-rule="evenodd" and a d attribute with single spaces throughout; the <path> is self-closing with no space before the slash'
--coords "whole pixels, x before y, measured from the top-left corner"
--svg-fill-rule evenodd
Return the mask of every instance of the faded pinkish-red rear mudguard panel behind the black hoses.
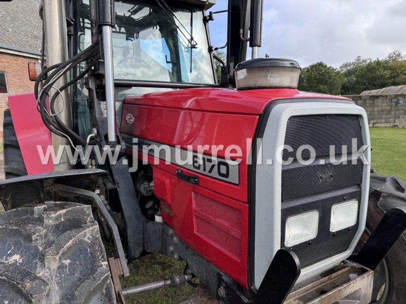
<path id="1" fill-rule="evenodd" d="M 18 144 L 28 174 L 51 172 L 54 170 L 52 159 L 41 163 L 37 146 L 47 150 L 52 146 L 51 132 L 44 125 L 37 110 L 37 100 L 33 93 L 8 96 L 11 117 L 13 118 Z"/>

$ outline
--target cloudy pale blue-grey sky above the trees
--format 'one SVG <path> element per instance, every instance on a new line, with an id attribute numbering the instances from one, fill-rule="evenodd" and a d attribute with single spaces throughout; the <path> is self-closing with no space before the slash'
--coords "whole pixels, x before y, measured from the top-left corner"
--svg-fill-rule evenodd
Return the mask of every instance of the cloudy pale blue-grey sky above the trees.
<path id="1" fill-rule="evenodd" d="M 212 10 L 226 9 L 217 0 Z M 226 40 L 226 15 L 210 23 L 212 44 Z M 339 67 L 356 56 L 406 53 L 406 0 L 264 0 L 260 57 L 294 59 L 302 67 L 323 61 Z"/>

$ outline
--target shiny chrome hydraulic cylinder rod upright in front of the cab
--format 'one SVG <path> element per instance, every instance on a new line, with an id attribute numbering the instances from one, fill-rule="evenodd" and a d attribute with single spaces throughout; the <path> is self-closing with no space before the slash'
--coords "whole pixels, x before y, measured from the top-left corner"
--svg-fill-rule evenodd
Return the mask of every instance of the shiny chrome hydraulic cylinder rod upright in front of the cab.
<path id="1" fill-rule="evenodd" d="M 109 25 L 104 25 L 102 29 L 106 79 L 107 137 L 109 143 L 114 143 L 116 142 L 116 105 L 114 101 L 112 28 Z"/>

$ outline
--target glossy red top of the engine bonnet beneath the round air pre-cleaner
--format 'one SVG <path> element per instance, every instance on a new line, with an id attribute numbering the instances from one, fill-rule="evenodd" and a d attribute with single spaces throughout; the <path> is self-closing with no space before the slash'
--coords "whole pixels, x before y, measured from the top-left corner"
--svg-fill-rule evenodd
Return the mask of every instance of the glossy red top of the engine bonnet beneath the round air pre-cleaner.
<path id="1" fill-rule="evenodd" d="M 280 98 L 348 99 L 341 96 L 300 92 L 295 89 L 236 90 L 204 88 L 130 95 L 125 98 L 124 103 L 207 112 L 259 115 L 269 101 Z"/>

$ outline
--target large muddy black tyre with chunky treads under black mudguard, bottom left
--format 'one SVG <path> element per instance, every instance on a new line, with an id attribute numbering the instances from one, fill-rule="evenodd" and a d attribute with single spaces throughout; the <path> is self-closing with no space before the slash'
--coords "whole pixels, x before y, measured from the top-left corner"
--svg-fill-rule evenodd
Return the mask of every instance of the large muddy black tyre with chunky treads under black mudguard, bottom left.
<path id="1" fill-rule="evenodd" d="M 115 303 L 90 206 L 46 202 L 0 214 L 0 299 L 8 304 Z"/>

